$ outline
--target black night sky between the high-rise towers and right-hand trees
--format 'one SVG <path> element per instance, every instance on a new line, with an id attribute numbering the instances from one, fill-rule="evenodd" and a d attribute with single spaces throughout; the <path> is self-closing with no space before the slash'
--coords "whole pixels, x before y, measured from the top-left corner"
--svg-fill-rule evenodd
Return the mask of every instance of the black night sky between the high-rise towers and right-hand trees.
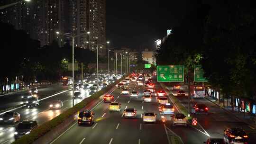
<path id="1" fill-rule="evenodd" d="M 153 49 L 156 39 L 184 20 L 192 9 L 188 1 L 107 0 L 107 40 L 111 47 Z"/>

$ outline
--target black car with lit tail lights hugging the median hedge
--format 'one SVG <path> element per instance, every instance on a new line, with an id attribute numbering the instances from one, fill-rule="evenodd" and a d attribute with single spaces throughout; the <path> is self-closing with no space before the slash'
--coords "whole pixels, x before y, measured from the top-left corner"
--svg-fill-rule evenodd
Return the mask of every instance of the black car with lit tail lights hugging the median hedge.
<path id="1" fill-rule="evenodd" d="M 83 125 L 93 125 L 95 113 L 91 110 L 81 111 L 77 118 L 77 123 L 79 126 Z"/>

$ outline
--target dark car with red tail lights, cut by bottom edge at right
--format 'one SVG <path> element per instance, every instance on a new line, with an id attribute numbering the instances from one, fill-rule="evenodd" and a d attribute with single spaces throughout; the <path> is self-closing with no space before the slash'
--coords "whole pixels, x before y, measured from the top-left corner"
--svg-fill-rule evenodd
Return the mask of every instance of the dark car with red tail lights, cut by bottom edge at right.
<path id="1" fill-rule="evenodd" d="M 227 128 L 224 130 L 224 141 L 228 144 L 248 144 L 248 135 L 241 128 Z"/>

